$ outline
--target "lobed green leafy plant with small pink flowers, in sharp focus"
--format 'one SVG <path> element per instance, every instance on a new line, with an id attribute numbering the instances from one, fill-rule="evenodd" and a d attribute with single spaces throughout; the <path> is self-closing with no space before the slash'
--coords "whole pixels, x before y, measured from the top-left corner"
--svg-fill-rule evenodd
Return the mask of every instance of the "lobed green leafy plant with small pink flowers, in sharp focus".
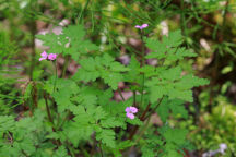
<path id="1" fill-rule="evenodd" d="M 57 63 L 56 58 L 63 56 L 80 68 L 67 78 L 56 70 L 47 80 L 34 80 L 25 92 L 33 99 L 28 114 L 19 120 L 0 116 L 0 156 L 128 156 L 137 148 L 143 157 L 182 157 L 185 149 L 191 149 L 188 131 L 173 128 L 168 118 L 187 119 L 184 104 L 193 101 L 192 87 L 209 81 L 180 68 L 180 60 L 196 57 L 181 46 L 180 31 L 160 40 L 146 37 L 146 27 L 137 26 L 142 50 L 131 56 L 128 65 L 86 39 L 82 25 L 64 27 L 60 35 L 38 35 L 49 48 L 38 58 L 40 63 Z M 146 59 L 157 63 L 148 64 Z M 133 93 L 129 99 L 123 98 L 120 82 Z M 114 99 L 116 90 L 122 101 Z M 163 125 L 149 128 L 155 112 Z"/>

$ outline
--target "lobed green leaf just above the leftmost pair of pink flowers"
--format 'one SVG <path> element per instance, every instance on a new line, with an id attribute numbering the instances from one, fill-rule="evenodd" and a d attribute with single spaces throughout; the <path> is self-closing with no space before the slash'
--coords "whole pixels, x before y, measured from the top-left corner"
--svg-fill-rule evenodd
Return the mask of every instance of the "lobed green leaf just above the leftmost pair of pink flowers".
<path id="1" fill-rule="evenodd" d="M 86 40 L 84 36 L 85 31 L 82 25 L 69 25 L 63 27 L 60 35 L 51 33 L 37 35 L 36 37 L 50 48 L 48 52 L 62 53 L 63 56 L 70 55 L 73 60 L 78 61 L 81 55 L 98 50 L 98 47 Z"/>

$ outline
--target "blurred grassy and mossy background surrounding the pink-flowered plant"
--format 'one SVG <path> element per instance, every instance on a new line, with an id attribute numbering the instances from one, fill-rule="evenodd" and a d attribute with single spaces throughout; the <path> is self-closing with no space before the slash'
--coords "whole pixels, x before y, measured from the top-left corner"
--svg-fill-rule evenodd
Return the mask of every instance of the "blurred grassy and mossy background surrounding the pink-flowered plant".
<path id="1" fill-rule="evenodd" d="M 184 45 L 199 55 L 182 61 L 182 69 L 191 71 L 191 63 L 211 84 L 193 89 L 194 102 L 186 105 L 189 119 L 173 125 L 191 131 L 196 155 L 225 143 L 228 155 L 236 156 L 235 17 L 235 0 L 0 0 L 0 113 L 21 114 L 27 100 L 23 95 L 31 95 L 27 85 L 47 77 L 42 69 L 48 75 L 54 69 L 38 62 L 45 48 L 37 34 L 59 34 L 68 24 L 83 24 L 93 43 L 126 64 L 141 49 L 134 25 L 148 23 L 145 33 L 155 38 L 180 28 Z M 59 74 L 64 61 L 58 60 Z M 76 67 L 71 62 L 67 75 Z"/>

